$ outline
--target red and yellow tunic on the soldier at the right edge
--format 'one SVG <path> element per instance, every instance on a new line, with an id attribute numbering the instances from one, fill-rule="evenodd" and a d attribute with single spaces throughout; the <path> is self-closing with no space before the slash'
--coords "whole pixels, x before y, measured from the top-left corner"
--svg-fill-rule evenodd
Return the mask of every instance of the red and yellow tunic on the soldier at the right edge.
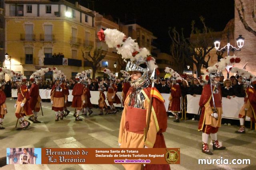
<path id="1" fill-rule="evenodd" d="M 239 112 L 239 118 L 244 118 L 245 108 L 248 109 L 246 116 L 250 117 L 251 120 L 256 123 L 256 90 L 252 87 L 248 87 L 245 91 L 246 97 L 244 98 L 244 105 Z"/>

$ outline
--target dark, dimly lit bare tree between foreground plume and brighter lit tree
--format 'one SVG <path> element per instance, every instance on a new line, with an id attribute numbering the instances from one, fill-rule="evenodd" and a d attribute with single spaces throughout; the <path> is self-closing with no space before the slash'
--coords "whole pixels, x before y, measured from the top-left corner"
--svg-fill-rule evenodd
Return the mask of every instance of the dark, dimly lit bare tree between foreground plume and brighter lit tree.
<path id="1" fill-rule="evenodd" d="M 177 71 L 182 73 L 184 69 L 185 64 L 185 58 L 188 53 L 187 51 L 187 43 L 186 39 L 183 35 L 183 28 L 181 30 L 181 35 L 176 31 L 175 27 L 171 28 L 169 27 L 169 37 L 171 38 L 171 45 L 170 45 L 170 53 L 171 57 L 175 62 L 175 65 L 177 66 Z"/>

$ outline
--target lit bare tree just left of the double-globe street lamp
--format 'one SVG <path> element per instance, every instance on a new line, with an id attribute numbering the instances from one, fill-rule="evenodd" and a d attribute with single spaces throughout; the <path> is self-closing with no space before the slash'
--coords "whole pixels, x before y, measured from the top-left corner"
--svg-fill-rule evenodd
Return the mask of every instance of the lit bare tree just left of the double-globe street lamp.
<path id="1" fill-rule="evenodd" d="M 206 27 L 204 18 L 200 16 L 203 24 L 202 31 L 194 27 L 195 21 L 192 21 L 192 31 L 189 39 L 190 57 L 188 59 L 196 65 L 197 76 L 201 76 L 202 66 L 207 68 L 210 61 L 210 51 L 214 48 L 211 31 Z M 206 60 L 206 57 L 208 59 Z"/>

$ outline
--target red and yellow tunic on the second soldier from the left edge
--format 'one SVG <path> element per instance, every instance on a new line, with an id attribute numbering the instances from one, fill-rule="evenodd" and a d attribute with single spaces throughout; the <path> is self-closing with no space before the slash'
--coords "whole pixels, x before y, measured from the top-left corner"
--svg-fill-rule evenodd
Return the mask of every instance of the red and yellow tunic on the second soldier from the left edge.
<path id="1" fill-rule="evenodd" d="M 29 106 L 29 100 L 30 95 L 27 89 L 27 86 L 25 84 L 22 84 L 20 88 L 18 88 L 18 99 L 16 101 L 16 111 L 15 115 L 17 118 L 20 118 L 20 116 L 32 116 L 33 112 Z M 24 106 L 21 107 L 20 105 L 24 103 Z"/>

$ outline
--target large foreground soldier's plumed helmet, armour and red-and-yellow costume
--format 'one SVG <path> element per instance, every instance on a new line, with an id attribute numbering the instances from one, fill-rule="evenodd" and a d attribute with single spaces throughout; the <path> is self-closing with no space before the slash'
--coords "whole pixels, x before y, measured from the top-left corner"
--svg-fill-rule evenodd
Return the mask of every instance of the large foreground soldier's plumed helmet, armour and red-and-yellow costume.
<path id="1" fill-rule="evenodd" d="M 154 90 L 152 106 L 149 106 L 150 98 L 150 80 L 148 76 L 154 68 L 157 68 L 155 59 L 151 57 L 146 48 L 139 48 L 131 37 L 125 38 L 124 33 L 116 29 L 101 30 L 98 33 L 99 38 L 105 39 L 108 47 L 117 47 L 118 53 L 124 59 L 130 59 L 126 65 L 126 71 L 129 73 L 140 72 L 141 77 L 137 80 L 131 80 L 130 90 L 127 93 L 124 102 L 124 111 L 120 122 L 118 143 L 121 148 L 166 148 L 164 136 L 166 131 L 167 117 L 164 107 L 164 100 L 161 94 Z M 146 64 L 145 64 L 146 63 Z M 131 74 L 132 76 L 132 74 Z M 147 116 L 150 112 L 150 125 L 146 135 Z M 123 164 L 126 170 L 140 170 L 141 164 Z M 144 169 L 170 169 L 168 164 L 146 164 Z"/>

